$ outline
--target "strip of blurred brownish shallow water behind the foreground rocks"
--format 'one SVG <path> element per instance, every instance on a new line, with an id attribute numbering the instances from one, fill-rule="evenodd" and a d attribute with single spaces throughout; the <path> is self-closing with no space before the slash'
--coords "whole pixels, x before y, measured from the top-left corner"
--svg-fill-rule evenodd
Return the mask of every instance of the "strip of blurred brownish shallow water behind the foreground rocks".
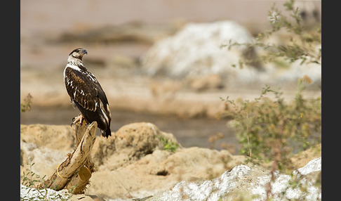
<path id="1" fill-rule="evenodd" d="M 69 125 L 72 118 L 79 115 L 79 110 L 74 108 L 42 108 L 32 107 L 28 112 L 20 113 L 20 124 L 55 124 Z M 201 148 L 215 148 L 221 150 L 221 143 L 235 145 L 234 151 L 239 150 L 234 131 L 227 127 L 226 119 L 208 118 L 180 118 L 170 115 L 152 115 L 128 111 L 112 111 L 112 131 L 134 122 L 151 122 L 161 131 L 171 133 L 185 148 L 198 146 Z M 210 143 L 208 139 L 214 134 L 222 133 L 223 138 Z M 100 136 L 100 131 L 97 131 Z"/>

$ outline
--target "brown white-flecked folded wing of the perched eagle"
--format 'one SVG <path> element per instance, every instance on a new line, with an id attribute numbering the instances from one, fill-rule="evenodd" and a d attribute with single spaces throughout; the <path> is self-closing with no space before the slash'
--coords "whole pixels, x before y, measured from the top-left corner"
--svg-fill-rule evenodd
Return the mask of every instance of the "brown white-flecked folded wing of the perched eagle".
<path id="1" fill-rule="evenodd" d="M 105 92 L 91 72 L 73 70 L 71 67 L 67 67 L 65 70 L 65 86 L 70 98 L 86 110 L 95 111 L 101 102 L 107 105 Z"/>

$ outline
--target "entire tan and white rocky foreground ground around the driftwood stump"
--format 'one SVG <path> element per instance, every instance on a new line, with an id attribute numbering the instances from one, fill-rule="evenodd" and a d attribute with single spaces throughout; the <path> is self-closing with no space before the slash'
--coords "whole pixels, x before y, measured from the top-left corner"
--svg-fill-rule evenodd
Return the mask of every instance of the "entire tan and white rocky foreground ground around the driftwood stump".
<path id="1" fill-rule="evenodd" d="M 270 171 L 261 164 L 246 162 L 243 155 L 232 155 L 227 150 L 182 148 L 173 134 L 160 131 L 148 122 L 127 124 L 112 134 L 108 139 L 96 138 L 91 183 L 85 195 L 74 195 L 72 199 L 218 200 L 221 197 L 231 200 L 231 197 L 248 199 L 258 194 L 256 200 L 265 200 Z M 47 178 L 73 150 L 74 128 L 69 125 L 22 124 L 20 175 L 30 169 Z M 321 179 L 321 144 L 295 155 L 292 162 L 300 176 L 305 177 L 307 183 L 302 185 L 307 185 L 307 192 L 290 188 L 291 177 L 276 171 L 272 187 L 275 197 L 321 198 L 321 187 L 314 186 Z M 21 189 L 21 197 L 39 195 L 34 190 L 27 193 L 29 188 L 25 186 Z M 50 193 L 53 196 L 55 192 Z"/>

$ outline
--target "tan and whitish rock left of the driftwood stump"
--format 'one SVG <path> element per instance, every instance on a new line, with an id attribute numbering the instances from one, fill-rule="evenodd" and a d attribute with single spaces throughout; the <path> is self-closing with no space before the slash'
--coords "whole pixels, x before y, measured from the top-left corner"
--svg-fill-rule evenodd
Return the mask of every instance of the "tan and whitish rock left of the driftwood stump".
<path id="1" fill-rule="evenodd" d="M 30 164 L 32 171 L 50 176 L 74 150 L 74 130 L 59 125 L 20 125 L 20 172 Z"/>

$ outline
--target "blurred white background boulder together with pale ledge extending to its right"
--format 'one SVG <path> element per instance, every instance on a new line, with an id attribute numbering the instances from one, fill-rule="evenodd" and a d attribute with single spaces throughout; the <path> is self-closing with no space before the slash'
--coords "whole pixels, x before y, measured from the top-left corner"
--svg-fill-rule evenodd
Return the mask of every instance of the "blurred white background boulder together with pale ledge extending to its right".
<path id="1" fill-rule="evenodd" d="M 265 44 L 281 45 L 290 37 L 293 37 L 292 34 L 284 30 L 275 32 L 266 39 Z M 289 63 L 281 58 L 273 63 L 261 63 L 255 58 L 264 54 L 262 48 L 220 48 L 230 42 L 243 44 L 253 40 L 250 32 L 234 21 L 189 23 L 172 37 L 162 39 L 149 48 L 141 58 L 142 70 L 149 76 L 185 80 L 190 82 L 189 86 L 195 91 L 219 89 L 222 86 L 257 87 L 264 84 L 292 88 L 297 85 L 297 79 L 305 75 L 312 78 L 310 87 L 319 89 L 321 64 L 302 64 L 302 60 Z M 316 46 L 316 53 L 319 48 L 321 45 Z M 242 59 L 251 59 L 253 62 L 241 66 L 239 62 Z M 220 77 L 220 81 L 214 84 L 208 82 L 208 77 L 213 74 Z"/>

